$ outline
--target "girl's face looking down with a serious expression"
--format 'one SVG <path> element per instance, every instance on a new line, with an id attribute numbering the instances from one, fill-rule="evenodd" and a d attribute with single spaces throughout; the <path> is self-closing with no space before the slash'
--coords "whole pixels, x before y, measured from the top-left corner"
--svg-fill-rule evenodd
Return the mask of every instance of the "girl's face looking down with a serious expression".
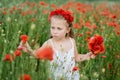
<path id="1" fill-rule="evenodd" d="M 59 18 L 51 18 L 51 36 L 57 40 L 64 39 L 66 33 L 70 31 L 67 27 L 66 21 Z"/>

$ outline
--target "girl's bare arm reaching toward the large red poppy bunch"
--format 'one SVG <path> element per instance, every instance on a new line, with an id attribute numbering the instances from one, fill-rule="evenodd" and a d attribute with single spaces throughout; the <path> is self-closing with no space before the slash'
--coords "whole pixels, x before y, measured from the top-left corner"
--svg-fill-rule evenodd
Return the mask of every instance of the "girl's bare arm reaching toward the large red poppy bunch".
<path id="1" fill-rule="evenodd" d="M 76 47 L 76 43 L 75 43 L 75 40 L 74 40 L 74 49 L 75 49 L 75 60 L 77 62 L 82 62 L 82 61 L 85 61 L 85 60 L 89 60 L 91 58 L 95 58 L 95 55 L 92 53 L 92 52 L 88 52 L 87 54 L 79 54 L 78 53 L 78 50 L 77 50 L 77 47 Z"/>

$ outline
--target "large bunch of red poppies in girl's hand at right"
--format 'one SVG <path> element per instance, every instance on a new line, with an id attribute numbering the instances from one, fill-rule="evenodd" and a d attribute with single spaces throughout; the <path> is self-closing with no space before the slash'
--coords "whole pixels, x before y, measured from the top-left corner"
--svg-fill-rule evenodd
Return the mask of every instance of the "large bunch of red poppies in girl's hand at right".
<path id="1" fill-rule="evenodd" d="M 95 55 L 98 53 L 104 52 L 103 37 L 100 35 L 94 35 L 88 41 L 88 49 L 92 51 Z"/>

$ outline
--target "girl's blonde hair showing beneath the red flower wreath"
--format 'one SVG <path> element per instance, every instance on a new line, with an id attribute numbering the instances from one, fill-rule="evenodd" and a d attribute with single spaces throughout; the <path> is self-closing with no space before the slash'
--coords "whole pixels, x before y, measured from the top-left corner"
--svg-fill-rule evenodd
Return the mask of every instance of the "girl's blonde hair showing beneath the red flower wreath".
<path id="1" fill-rule="evenodd" d="M 68 28 L 70 28 L 70 31 L 69 31 L 69 33 L 67 33 L 66 34 L 66 37 L 71 37 L 71 38 L 74 38 L 74 32 L 73 32 L 73 25 L 72 25 L 72 23 L 68 23 L 67 22 L 67 20 L 63 17 L 63 16 L 61 16 L 61 15 L 54 15 L 54 16 L 52 16 L 52 18 L 57 18 L 57 19 L 61 19 L 61 20 L 65 20 L 65 25 L 66 25 L 66 27 L 68 27 Z M 52 19 L 51 18 L 51 19 Z M 51 21 L 51 20 L 50 20 Z M 52 36 L 51 36 L 52 37 Z"/>

